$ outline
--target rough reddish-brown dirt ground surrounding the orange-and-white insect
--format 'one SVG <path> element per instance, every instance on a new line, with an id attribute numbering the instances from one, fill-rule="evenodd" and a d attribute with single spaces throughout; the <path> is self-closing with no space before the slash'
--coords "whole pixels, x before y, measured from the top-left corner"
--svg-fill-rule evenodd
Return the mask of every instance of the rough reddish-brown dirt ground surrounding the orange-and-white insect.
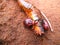
<path id="1" fill-rule="evenodd" d="M 60 45 L 60 0 L 26 0 L 43 11 L 54 32 L 43 37 L 24 28 L 26 14 L 17 0 L 0 0 L 0 45 Z"/>

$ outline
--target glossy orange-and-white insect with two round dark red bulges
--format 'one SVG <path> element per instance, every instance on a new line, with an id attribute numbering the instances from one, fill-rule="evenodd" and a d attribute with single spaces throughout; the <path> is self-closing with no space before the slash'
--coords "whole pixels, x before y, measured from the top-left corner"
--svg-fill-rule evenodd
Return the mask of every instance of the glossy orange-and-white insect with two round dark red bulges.
<path id="1" fill-rule="evenodd" d="M 53 31 L 52 26 L 47 19 L 47 17 L 43 14 L 42 11 L 40 11 L 41 15 L 45 18 L 45 20 L 39 22 L 38 14 L 34 11 L 34 6 L 24 0 L 18 0 L 19 6 L 25 11 L 27 16 L 30 19 L 24 20 L 24 24 L 28 27 L 32 26 L 34 32 L 36 34 L 42 35 L 44 34 L 44 30 L 48 30 L 49 28 Z M 37 9 L 37 8 L 36 8 Z"/>

